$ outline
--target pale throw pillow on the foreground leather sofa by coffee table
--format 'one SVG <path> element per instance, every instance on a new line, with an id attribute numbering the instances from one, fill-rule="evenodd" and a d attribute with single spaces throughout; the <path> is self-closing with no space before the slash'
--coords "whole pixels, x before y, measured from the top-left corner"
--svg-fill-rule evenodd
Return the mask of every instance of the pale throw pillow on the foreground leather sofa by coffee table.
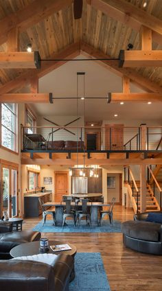
<path id="1" fill-rule="evenodd" d="M 53 265 L 54 261 L 56 260 L 57 255 L 53 254 L 38 254 L 38 255 L 27 255 L 23 257 L 14 257 L 14 259 L 22 259 L 22 260 L 29 260 L 29 261 L 40 261 L 41 263 L 45 263 L 48 265 Z"/>

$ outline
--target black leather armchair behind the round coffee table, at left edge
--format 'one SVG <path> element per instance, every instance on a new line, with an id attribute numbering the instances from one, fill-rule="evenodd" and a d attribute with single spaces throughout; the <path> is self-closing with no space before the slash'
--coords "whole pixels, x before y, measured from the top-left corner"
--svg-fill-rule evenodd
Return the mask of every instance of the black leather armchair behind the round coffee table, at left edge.
<path id="1" fill-rule="evenodd" d="M 12 231 L 10 233 L 0 233 L 0 252 L 10 253 L 14 246 L 25 242 L 34 242 L 40 239 L 37 231 Z"/>

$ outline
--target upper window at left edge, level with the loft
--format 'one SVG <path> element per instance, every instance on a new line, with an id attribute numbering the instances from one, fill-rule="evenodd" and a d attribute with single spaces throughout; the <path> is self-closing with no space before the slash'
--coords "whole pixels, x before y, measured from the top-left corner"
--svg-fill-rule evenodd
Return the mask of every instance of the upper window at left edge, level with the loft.
<path id="1" fill-rule="evenodd" d="M 17 105 L 1 104 L 1 146 L 17 151 Z"/>

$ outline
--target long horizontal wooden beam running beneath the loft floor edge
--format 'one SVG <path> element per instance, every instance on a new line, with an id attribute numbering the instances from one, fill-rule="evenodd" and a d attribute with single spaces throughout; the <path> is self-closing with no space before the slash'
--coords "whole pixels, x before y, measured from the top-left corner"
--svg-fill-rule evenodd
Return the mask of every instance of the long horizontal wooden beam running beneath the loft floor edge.
<path id="1" fill-rule="evenodd" d="M 77 159 L 21 159 L 22 165 L 76 165 Z M 78 163 L 82 165 L 83 160 Z M 86 159 L 86 165 L 159 165 L 162 159 Z"/>

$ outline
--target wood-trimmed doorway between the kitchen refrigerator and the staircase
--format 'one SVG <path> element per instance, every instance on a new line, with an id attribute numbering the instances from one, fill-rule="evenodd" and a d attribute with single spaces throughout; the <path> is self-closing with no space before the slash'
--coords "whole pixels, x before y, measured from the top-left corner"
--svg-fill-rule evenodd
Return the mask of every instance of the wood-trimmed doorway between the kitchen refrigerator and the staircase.
<path id="1" fill-rule="evenodd" d="M 115 197 L 115 204 L 122 205 L 122 174 L 107 174 L 107 201 L 111 202 Z"/>

